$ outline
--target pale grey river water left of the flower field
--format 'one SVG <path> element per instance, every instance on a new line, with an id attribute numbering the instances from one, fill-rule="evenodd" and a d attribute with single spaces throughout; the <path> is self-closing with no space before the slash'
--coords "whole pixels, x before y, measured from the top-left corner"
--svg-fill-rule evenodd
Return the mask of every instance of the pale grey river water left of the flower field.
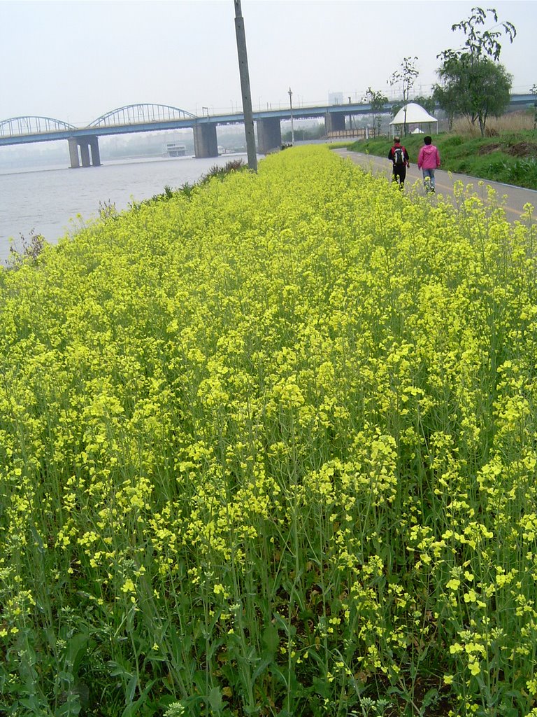
<path id="1" fill-rule="evenodd" d="M 100 167 L 0 170 L 0 265 L 9 247 L 21 248 L 22 237 L 42 234 L 55 244 L 82 222 L 97 217 L 100 204 L 115 204 L 118 212 L 133 201 L 162 194 L 166 185 L 178 189 L 192 184 L 213 166 L 246 155 L 206 159 L 190 157 L 109 161 Z M 11 242 L 10 242 L 11 238 Z"/>

